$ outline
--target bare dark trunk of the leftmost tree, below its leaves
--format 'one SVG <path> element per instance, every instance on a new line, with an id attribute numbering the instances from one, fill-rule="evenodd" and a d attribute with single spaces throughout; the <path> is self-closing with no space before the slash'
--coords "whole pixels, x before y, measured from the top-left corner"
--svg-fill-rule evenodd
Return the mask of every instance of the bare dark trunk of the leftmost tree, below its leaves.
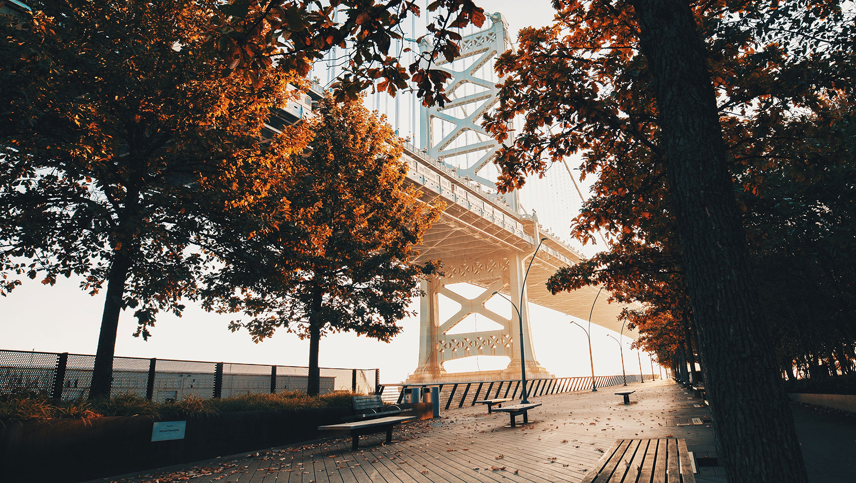
<path id="1" fill-rule="evenodd" d="M 116 332 L 119 329 L 119 315 L 122 314 L 122 297 L 125 293 L 125 281 L 131 268 L 131 256 L 128 248 L 116 251 L 110 262 L 110 274 L 107 279 L 107 295 L 104 297 L 104 312 L 101 315 L 101 333 L 98 335 L 98 349 L 95 351 L 95 366 L 92 369 L 92 385 L 89 397 L 110 397 L 113 385 L 113 355 L 116 352 Z"/>

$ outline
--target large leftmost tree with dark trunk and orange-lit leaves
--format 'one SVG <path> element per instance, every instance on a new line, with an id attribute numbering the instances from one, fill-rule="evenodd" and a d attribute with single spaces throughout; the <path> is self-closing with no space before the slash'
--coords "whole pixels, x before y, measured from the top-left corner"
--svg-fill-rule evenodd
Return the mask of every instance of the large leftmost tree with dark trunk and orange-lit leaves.
<path id="1" fill-rule="evenodd" d="M 21 276 L 106 284 L 93 395 L 110 392 L 121 310 L 144 338 L 158 311 L 180 314 L 217 245 L 265 229 L 254 210 L 280 182 L 265 165 L 308 140 L 260 141 L 300 80 L 201 56 L 213 5 L 48 2 L 3 19 L 3 294 Z"/>

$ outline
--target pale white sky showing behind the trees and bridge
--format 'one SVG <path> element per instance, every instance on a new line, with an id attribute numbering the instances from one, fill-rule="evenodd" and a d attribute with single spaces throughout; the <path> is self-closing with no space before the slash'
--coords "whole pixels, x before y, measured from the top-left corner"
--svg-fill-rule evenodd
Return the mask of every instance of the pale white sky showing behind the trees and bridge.
<path id="1" fill-rule="evenodd" d="M 512 32 L 529 25 L 541 27 L 553 16 L 549 0 L 483 0 L 486 11 L 500 11 Z M 573 164 L 573 163 L 572 163 Z M 590 179 L 591 180 L 591 179 Z M 590 181 L 587 180 L 587 181 Z M 575 213 L 568 213 L 567 222 Z M 583 249 L 591 255 L 591 247 Z M 94 354 L 104 304 L 104 292 L 90 297 L 79 289 L 80 280 L 60 279 L 55 286 L 43 286 L 38 280 L 26 280 L 9 297 L 0 298 L 0 349 L 45 350 Z M 598 303 L 599 305 L 600 303 Z M 419 303 L 413 304 L 419 309 Z M 532 344 L 538 362 L 557 376 L 588 375 L 586 335 L 569 321 L 574 318 L 532 304 Z M 503 314 L 510 317 L 509 314 Z M 209 314 L 188 304 L 184 315 L 158 316 L 153 336 L 147 342 L 131 336 L 136 328 L 133 310 L 122 314 L 116 339 L 116 356 L 141 356 L 213 362 L 253 362 L 305 366 L 308 341 L 281 331 L 272 339 L 253 344 L 246 332 L 230 333 L 229 315 Z M 582 320 L 577 320 L 584 322 Z M 401 321 L 403 331 L 389 344 L 357 337 L 352 333 L 330 335 L 321 341 L 320 365 L 333 368 L 380 368 L 381 382 L 404 380 L 413 372 L 419 355 L 419 317 Z M 592 349 L 595 373 L 621 374 L 618 345 L 606 337 L 617 333 L 592 324 Z M 627 374 L 639 374 L 635 350 L 627 350 Z M 456 362 L 455 372 L 501 368 L 495 360 L 482 357 Z M 446 368 L 453 364 L 447 363 Z M 642 355 L 642 368 L 650 373 L 651 364 Z M 655 370 L 657 367 L 655 366 Z"/>

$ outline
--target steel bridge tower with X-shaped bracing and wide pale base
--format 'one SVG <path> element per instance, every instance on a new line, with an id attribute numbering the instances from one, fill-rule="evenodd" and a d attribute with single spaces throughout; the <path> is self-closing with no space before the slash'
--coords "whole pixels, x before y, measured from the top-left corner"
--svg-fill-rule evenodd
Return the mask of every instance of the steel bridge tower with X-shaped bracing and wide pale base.
<path id="1" fill-rule="evenodd" d="M 496 83 L 499 80 L 493 74 L 493 61 L 508 49 L 510 42 L 508 26 L 502 15 L 497 13 L 489 18 L 490 27 L 461 39 L 460 56 L 453 62 L 444 59 L 437 62 L 437 68 L 452 75 L 447 87 L 451 102 L 443 108 L 422 108 L 419 128 L 423 152 L 446 168 L 454 169 L 458 176 L 479 190 L 496 192 L 496 175 L 491 171 L 496 168 L 491 161 L 500 146 L 484 132 L 480 119 L 497 102 Z M 427 44 L 420 45 L 422 50 L 427 48 Z M 500 201 L 522 222 L 526 234 L 538 240 L 537 217 L 520 215 L 517 194 L 504 195 Z M 468 231 L 467 227 L 459 228 Z M 515 379 L 520 377 L 521 363 L 526 363 L 527 377 L 552 377 L 535 359 L 532 350 L 529 303 L 523 279 L 526 264 L 534 250 L 532 244 L 500 244 L 489 251 L 479 251 L 471 245 L 468 250 L 454 250 L 454 253 L 442 256 L 443 278 L 422 284 L 426 295 L 421 298 L 419 310 L 419 366 L 407 382 Z M 467 298 L 447 288 L 459 282 L 478 286 L 481 292 L 476 297 Z M 514 309 L 509 319 L 487 309 L 484 303 L 491 297 L 499 297 L 493 292 L 501 292 L 510 298 L 519 307 L 522 321 Z M 440 316 L 440 295 L 461 305 L 461 309 L 445 320 Z M 449 333 L 454 332 L 455 326 L 471 314 L 482 315 L 499 324 L 500 328 Z M 525 362 L 520 358 L 520 323 L 523 324 Z M 497 371 L 448 374 L 443 369 L 443 362 L 478 355 L 508 356 L 511 362 L 507 368 Z"/>

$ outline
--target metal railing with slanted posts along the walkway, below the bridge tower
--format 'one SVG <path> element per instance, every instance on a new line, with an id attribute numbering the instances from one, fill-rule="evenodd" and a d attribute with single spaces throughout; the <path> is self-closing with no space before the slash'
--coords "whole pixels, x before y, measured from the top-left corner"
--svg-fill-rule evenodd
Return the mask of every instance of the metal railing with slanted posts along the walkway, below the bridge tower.
<path id="1" fill-rule="evenodd" d="M 659 374 L 645 374 L 645 380 L 659 379 Z M 627 376 L 627 382 L 639 382 L 639 374 Z M 624 376 L 599 375 L 595 377 L 597 387 L 618 386 L 624 384 Z M 591 376 L 558 377 L 552 379 L 527 380 L 529 398 L 536 398 L 562 392 L 591 391 Z M 459 382 L 429 382 L 425 384 L 381 384 L 377 393 L 385 403 L 402 403 L 405 390 L 409 388 L 437 387 L 440 395 L 440 407 L 443 409 L 462 408 L 465 404 L 475 405 L 480 399 L 512 398 L 522 396 L 520 380 L 473 380 Z"/>

